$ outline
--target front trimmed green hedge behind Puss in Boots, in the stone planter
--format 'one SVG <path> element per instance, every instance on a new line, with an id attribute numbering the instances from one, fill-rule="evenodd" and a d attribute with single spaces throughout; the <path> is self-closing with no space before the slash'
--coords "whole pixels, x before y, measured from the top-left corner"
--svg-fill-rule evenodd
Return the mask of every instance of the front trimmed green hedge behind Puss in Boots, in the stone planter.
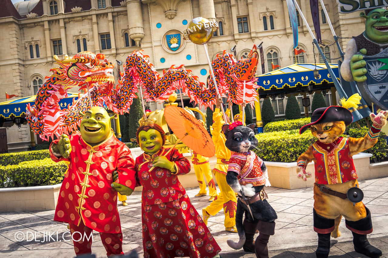
<path id="1" fill-rule="evenodd" d="M 343 137 L 364 137 L 369 129 L 363 127 L 360 129 L 349 129 L 348 136 Z M 298 157 L 304 153 L 317 138 L 309 130 L 299 134 L 299 130 L 275 131 L 256 134 L 258 139 L 258 149 L 255 153 L 264 161 L 272 162 L 296 162 Z M 387 155 L 388 146 L 385 140 L 386 135 L 381 132 L 378 142 L 365 153 L 371 153 L 371 162 L 381 162 Z"/>

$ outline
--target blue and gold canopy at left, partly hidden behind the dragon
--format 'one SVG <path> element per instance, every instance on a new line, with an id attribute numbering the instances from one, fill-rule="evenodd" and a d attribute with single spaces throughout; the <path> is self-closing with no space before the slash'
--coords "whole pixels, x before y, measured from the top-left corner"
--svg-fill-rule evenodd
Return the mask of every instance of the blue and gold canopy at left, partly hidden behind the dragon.
<path id="1" fill-rule="evenodd" d="M 23 115 L 26 115 L 27 103 L 29 103 L 30 105 L 33 105 L 35 104 L 35 99 L 36 99 L 36 95 L 1 102 L 0 118 L 7 119 L 9 117 L 21 117 Z M 67 108 L 69 104 L 73 103 L 73 99 L 77 100 L 78 94 L 68 93 L 68 97 L 62 98 L 59 101 L 59 105 L 61 106 L 62 109 Z"/>

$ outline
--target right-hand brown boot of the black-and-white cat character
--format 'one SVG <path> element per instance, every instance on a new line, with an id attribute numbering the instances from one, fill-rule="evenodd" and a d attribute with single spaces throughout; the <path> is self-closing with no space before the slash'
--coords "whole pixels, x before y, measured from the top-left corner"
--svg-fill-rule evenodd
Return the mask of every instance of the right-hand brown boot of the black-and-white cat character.
<path id="1" fill-rule="evenodd" d="M 259 220 L 257 229 L 259 230 L 259 236 L 255 241 L 255 254 L 257 258 L 269 258 L 268 257 L 268 240 L 270 236 L 275 234 L 275 222 L 265 222 Z"/>

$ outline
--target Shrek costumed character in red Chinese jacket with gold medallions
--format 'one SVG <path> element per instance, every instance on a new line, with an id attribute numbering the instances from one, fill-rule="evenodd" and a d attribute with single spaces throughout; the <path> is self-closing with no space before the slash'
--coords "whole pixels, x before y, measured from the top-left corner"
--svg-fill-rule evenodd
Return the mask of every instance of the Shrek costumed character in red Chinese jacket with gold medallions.
<path id="1" fill-rule="evenodd" d="M 106 110 L 92 107 L 83 115 L 80 133 L 62 134 L 50 146 L 52 160 L 70 163 L 54 220 L 69 223 L 72 234 L 89 237 L 93 230 L 100 232 L 108 256 L 123 254 L 117 192 L 130 195 L 136 184 L 131 151 L 114 136 L 110 125 Z M 73 239 L 78 238 L 74 234 Z M 76 255 L 92 252 L 91 237 L 73 243 Z"/>

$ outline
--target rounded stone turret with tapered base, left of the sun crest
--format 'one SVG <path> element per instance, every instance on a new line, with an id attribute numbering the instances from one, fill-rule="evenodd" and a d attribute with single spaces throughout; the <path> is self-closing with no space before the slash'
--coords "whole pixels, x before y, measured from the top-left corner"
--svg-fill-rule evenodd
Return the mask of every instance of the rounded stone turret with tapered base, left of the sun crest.
<path id="1" fill-rule="evenodd" d="M 136 42 L 136 45 L 139 46 L 140 40 L 144 38 L 141 0 L 127 0 L 126 10 L 128 15 L 129 36 Z"/>

